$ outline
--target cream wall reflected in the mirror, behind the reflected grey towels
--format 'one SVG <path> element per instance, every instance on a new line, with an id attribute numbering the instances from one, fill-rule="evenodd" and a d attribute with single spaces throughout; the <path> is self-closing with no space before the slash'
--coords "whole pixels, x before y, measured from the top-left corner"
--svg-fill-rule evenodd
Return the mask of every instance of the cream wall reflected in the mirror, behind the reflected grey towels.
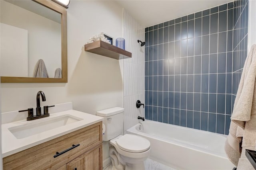
<path id="1" fill-rule="evenodd" d="M 54 78 L 55 69 L 61 68 L 61 24 L 9 2 L 0 3 L 1 23 L 28 30 L 28 76 L 33 76 L 37 61 L 43 59 L 49 77 Z"/>

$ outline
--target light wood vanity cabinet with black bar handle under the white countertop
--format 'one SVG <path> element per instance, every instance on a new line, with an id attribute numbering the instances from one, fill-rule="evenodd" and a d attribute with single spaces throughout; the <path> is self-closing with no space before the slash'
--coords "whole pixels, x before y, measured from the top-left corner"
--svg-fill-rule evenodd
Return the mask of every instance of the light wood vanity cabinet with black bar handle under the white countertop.
<path id="1" fill-rule="evenodd" d="M 76 145 L 78 146 L 74 147 Z M 72 147 L 73 149 L 56 156 L 56 152 L 61 153 Z M 6 156 L 3 158 L 3 168 L 4 170 L 74 170 L 75 168 L 102 170 L 102 122 Z"/>

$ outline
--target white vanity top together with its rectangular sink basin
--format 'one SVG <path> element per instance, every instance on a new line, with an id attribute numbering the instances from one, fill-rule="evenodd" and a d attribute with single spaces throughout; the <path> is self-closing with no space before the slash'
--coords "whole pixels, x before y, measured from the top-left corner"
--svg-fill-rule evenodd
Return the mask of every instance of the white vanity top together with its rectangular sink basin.
<path id="1" fill-rule="evenodd" d="M 20 116 L 18 111 L 15 112 L 17 113 L 14 115 Z M 4 114 L 10 115 L 8 112 Z M 2 157 L 72 133 L 102 120 L 103 117 L 69 109 L 32 121 L 27 121 L 24 117 L 18 121 L 3 123 L 1 125 Z"/>

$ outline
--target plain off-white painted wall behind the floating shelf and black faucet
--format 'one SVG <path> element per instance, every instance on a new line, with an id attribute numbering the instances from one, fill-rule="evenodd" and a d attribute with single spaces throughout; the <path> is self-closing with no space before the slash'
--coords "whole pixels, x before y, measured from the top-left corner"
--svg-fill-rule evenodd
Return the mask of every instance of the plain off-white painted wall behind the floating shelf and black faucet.
<path id="1" fill-rule="evenodd" d="M 41 106 L 73 102 L 74 109 L 91 114 L 123 107 L 123 61 L 84 51 L 95 34 L 122 37 L 122 8 L 114 1 L 72 0 L 67 12 L 68 83 L 2 83 L 1 112 L 35 107 L 39 90 L 46 95 Z M 103 160 L 107 157 L 103 150 Z"/>

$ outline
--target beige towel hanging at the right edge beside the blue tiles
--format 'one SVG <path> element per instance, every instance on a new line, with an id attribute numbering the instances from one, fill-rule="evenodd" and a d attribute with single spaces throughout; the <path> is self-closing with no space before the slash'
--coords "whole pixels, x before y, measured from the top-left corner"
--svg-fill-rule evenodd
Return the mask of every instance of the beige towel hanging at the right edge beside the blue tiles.
<path id="1" fill-rule="evenodd" d="M 231 116 L 225 151 L 238 169 L 253 169 L 245 149 L 255 148 L 256 141 L 256 45 L 252 45 L 244 63 Z M 242 144 L 242 145 L 241 145 Z M 242 154 L 241 154 L 242 153 Z"/>

